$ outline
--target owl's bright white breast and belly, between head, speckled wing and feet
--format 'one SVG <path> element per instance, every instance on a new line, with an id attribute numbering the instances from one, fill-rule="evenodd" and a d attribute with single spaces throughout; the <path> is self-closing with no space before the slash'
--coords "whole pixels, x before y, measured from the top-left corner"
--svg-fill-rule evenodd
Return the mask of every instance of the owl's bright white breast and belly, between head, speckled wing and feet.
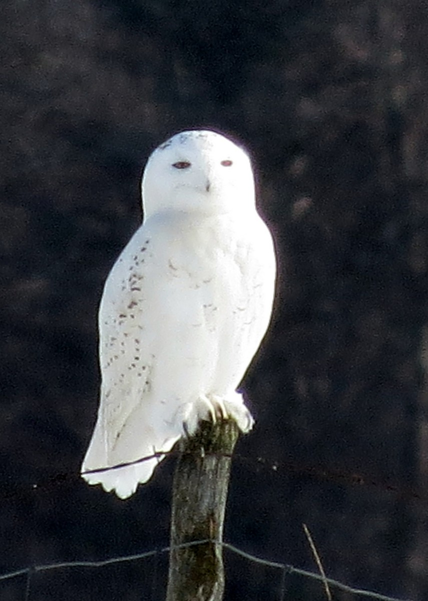
<path id="1" fill-rule="evenodd" d="M 246 227 L 230 215 L 177 219 L 164 221 L 162 234 L 153 235 L 160 247 L 153 258 L 165 274 L 164 289 L 153 300 L 162 314 L 160 329 L 168 324 L 169 331 L 168 341 L 161 336 L 154 347 L 171 364 L 181 364 L 180 388 L 224 395 L 239 385 L 268 327 L 271 237 L 258 216 Z M 168 231 L 169 243 L 161 240 Z"/>

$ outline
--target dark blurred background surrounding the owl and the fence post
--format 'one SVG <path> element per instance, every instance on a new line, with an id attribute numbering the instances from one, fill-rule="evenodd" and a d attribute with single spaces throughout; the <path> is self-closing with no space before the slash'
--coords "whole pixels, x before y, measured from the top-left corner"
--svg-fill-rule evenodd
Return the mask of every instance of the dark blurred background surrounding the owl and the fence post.
<path id="1" fill-rule="evenodd" d="M 428 598 L 427 34 L 418 0 L 2 0 L 0 573 L 168 544 L 172 458 L 126 502 L 57 474 L 91 436 L 145 160 L 213 127 L 254 157 L 280 262 L 225 537 L 316 571 L 305 522 L 329 576 Z M 226 560 L 226 599 L 278 599 L 278 572 Z M 166 567 L 38 574 L 28 598 L 159 601 Z"/>

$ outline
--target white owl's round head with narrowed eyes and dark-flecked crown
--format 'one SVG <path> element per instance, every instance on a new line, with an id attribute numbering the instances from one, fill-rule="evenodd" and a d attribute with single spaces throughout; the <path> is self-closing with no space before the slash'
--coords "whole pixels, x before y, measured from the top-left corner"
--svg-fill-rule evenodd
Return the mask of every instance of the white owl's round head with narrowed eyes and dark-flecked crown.
<path id="1" fill-rule="evenodd" d="M 142 202 L 145 219 L 165 211 L 215 215 L 254 210 L 248 154 L 216 132 L 177 133 L 148 159 Z"/>

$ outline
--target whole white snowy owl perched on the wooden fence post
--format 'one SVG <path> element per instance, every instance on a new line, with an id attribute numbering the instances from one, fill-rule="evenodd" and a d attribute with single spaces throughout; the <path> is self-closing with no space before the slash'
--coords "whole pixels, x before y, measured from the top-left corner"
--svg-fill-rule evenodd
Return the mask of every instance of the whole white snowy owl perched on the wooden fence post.
<path id="1" fill-rule="evenodd" d="M 82 472 L 167 453 L 203 419 L 254 422 L 236 389 L 271 319 L 275 254 L 248 155 L 219 133 L 177 133 L 148 159 L 142 201 L 100 304 L 100 405 Z M 83 477 L 124 499 L 161 459 Z"/>

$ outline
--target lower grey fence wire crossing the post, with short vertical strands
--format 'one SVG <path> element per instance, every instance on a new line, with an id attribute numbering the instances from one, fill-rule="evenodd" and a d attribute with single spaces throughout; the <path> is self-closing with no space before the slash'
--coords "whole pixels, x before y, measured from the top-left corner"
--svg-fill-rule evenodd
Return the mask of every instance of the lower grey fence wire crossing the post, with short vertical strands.
<path id="1" fill-rule="evenodd" d="M 239 549 L 238 547 L 231 545 L 230 543 L 225 543 L 223 541 L 213 540 L 211 538 L 205 538 L 204 540 L 195 540 L 191 543 L 183 543 L 182 545 L 177 546 L 168 546 L 160 549 L 153 549 L 153 551 L 145 551 L 144 553 L 137 553 L 134 555 L 121 555 L 120 557 L 112 557 L 108 560 L 100 560 L 100 561 L 63 561 L 60 563 L 52 563 L 52 564 L 42 564 L 40 566 L 29 566 L 22 568 L 20 570 L 15 570 L 14 572 L 8 572 L 0 575 L 0 582 L 10 580 L 11 578 L 17 578 L 18 576 L 26 576 L 25 581 L 25 590 L 26 595 L 25 599 L 28 599 L 29 596 L 29 587 L 32 576 L 34 576 L 37 572 L 48 572 L 50 570 L 62 570 L 66 568 L 76 568 L 76 567 L 85 567 L 85 568 L 96 568 L 109 566 L 111 564 L 118 564 L 123 562 L 135 561 L 135 560 L 144 560 L 148 557 L 153 557 L 156 555 L 169 553 L 170 551 L 176 551 L 178 549 L 186 549 L 189 547 L 193 547 L 195 545 L 206 545 L 207 543 L 212 543 L 215 545 L 221 545 L 223 549 L 227 549 L 232 553 L 239 555 L 240 557 L 245 558 L 248 561 L 252 561 L 252 563 L 259 564 L 265 567 L 272 567 L 281 571 L 281 596 L 280 600 L 284 601 L 285 595 L 285 585 L 286 585 L 286 577 L 287 575 L 296 574 L 298 576 L 304 576 L 305 578 L 320 581 L 321 583 L 327 582 L 329 586 L 332 588 L 337 588 L 346 593 L 351 593 L 354 595 L 358 595 L 360 597 L 365 597 L 367 599 L 374 599 L 376 601 L 409 601 L 404 599 L 399 599 L 398 597 L 388 597 L 387 595 L 376 593 L 374 591 L 369 591 L 364 588 L 353 588 L 343 582 L 338 580 L 334 580 L 332 578 L 326 578 L 323 575 L 308 572 L 308 570 L 302 570 L 301 568 L 291 566 L 290 564 L 280 563 L 277 561 L 269 561 L 261 557 L 257 557 L 256 555 L 252 555 Z"/>

